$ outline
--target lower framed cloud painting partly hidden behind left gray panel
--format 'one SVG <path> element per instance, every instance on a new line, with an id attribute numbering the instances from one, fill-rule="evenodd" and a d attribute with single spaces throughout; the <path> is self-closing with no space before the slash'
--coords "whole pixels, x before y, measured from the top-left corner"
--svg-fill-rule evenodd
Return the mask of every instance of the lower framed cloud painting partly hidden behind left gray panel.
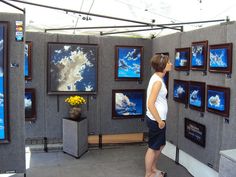
<path id="1" fill-rule="evenodd" d="M 35 121 L 36 120 L 36 106 L 35 106 L 35 89 L 25 89 L 25 120 Z"/>

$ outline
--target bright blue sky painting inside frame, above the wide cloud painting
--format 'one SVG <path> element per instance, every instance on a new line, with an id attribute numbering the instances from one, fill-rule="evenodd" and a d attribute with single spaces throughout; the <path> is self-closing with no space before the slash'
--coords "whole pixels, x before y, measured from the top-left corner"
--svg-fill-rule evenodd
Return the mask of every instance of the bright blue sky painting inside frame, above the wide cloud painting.
<path id="1" fill-rule="evenodd" d="M 141 49 L 119 47 L 118 48 L 118 78 L 141 77 Z"/>

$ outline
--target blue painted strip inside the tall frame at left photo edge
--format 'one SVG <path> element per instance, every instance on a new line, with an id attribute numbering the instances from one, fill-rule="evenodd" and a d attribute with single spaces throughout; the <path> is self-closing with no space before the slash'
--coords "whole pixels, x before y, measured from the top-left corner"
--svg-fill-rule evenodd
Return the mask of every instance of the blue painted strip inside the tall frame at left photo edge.
<path id="1" fill-rule="evenodd" d="M 0 140 L 5 135 L 5 112 L 4 112 L 4 27 L 0 25 Z"/>

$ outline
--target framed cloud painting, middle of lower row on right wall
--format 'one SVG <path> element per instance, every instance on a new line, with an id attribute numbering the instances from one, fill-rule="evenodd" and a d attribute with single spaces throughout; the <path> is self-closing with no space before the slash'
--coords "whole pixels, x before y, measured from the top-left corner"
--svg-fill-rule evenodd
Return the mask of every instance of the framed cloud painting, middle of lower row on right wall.
<path id="1" fill-rule="evenodd" d="M 204 82 L 189 82 L 188 103 L 191 109 L 205 111 L 205 86 Z"/>

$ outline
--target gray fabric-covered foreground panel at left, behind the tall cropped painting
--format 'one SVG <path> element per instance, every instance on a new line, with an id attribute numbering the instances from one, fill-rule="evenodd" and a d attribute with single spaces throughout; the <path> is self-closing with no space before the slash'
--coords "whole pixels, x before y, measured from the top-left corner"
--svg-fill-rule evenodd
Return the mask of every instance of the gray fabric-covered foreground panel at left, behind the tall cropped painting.
<path id="1" fill-rule="evenodd" d="M 0 21 L 9 22 L 8 66 L 19 64 L 19 67 L 8 68 L 10 143 L 0 144 L 0 171 L 25 173 L 24 43 L 15 41 L 16 20 L 24 22 L 24 15 L 0 13 Z"/>

